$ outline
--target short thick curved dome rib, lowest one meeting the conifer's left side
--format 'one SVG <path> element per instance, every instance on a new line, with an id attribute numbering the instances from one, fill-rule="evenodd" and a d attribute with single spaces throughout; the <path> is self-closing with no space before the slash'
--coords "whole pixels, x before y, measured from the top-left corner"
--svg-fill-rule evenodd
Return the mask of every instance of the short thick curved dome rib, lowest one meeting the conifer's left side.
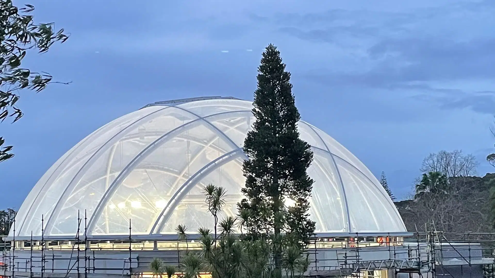
<path id="1" fill-rule="evenodd" d="M 155 223 L 153 224 L 153 227 L 150 229 L 150 234 L 153 233 L 159 233 L 161 229 L 165 226 L 166 222 L 168 221 L 168 218 L 170 217 L 171 213 L 173 212 L 173 209 L 179 204 L 179 202 L 184 198 L 184 195 L 191 190 L 192 186 L 196 185 L 198 181 L 200 181 L 204 176 L 208 175 L 211 173 L 213 170 L 217 169 L 218 167 L 221 167 L 222 165 L 243 157 L 244 151 L 242 148 L 235 149 L 231 152 L 228 152 L 215 160 L 211 161 L 210 163 L 206 164 L 201 168 L 197 173 L 195 173 L 189 180 L 187 180 L 172 196 L 172 198 L 168 201 L 167 205 L 165 208 L 163 208 L 162 212 L 156 219 Z M 212 166 L 212 167 L 210 167 Z M 156 227 L 158 226 L 158 229 Z"/>

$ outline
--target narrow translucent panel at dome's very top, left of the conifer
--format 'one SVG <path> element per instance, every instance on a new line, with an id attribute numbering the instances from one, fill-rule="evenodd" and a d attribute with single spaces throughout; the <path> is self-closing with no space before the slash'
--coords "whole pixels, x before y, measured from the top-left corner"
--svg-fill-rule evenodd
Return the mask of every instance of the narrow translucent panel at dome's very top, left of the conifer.
<path id="1" fill-rule="evenodd" d="M 252 103 L 237 99 L 207 99 L 182 103 L 177 107 L 187 109 L 200 117 L 206 117 L 229 111 L 251 110 Z"/>

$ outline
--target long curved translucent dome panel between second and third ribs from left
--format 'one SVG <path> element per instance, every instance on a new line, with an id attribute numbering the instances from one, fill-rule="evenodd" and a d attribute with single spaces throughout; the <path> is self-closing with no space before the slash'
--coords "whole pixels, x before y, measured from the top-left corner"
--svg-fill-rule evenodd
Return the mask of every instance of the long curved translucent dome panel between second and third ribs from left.
<path id="1" fill-rule="evenodd" d="M 197 119 L 196 116 L 175 107 L 161 108 L 122 129 L 79 171 L 59 202 L 62 208 L 55 211 L 56 219 L 51 220 L 54 220 L 50 223 L 54 234 L 65 233 L 68 227 L 77 230 L 77 227 L 73 227 L 73 223 L 77 223 L 75 212 L 86 211 L 91 216 L 117 175 L 141 151 L 159 137 Z M 67 226 L 67 229 L 63 228 L 64 226 Z"/>

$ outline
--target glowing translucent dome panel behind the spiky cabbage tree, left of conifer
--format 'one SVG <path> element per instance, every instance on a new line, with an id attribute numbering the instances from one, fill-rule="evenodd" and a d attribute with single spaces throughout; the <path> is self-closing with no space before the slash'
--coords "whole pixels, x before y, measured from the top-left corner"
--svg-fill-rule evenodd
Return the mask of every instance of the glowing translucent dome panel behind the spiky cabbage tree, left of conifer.
<path id="1" fill-rule="evenodd" d="M 160 233 L 176 233 L 175 228 L 180 224 L 186 225 L 189 232 L 197 232 L 199 228 L 214 231 L 213 216 L 208 212 L 208 204 L 202 192 L 208 184 L 226 189 L 225 206 L 219 215 L 219 222 L 226 216 L 236 216 L 237 203 L 243 198 L 241 188 L 245 183 L 242 173 L 243 161 L 239 153 L 222 162 L 220 166 L 213 167 L 204 177 L 198 177 L 198 182 L 191 184 L 183 198 L 165 214 Z"/>

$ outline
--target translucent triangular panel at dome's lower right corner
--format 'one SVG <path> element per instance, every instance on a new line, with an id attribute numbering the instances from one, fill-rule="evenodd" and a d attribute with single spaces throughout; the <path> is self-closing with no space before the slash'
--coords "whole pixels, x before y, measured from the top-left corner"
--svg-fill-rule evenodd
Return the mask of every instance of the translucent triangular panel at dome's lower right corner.
<path id="1" fill-rule="evenodd" d="M 335 161 L 348 192 L 351 232 L 405 232 L 389 196 L 347 161 L 340 158 Z"/>

